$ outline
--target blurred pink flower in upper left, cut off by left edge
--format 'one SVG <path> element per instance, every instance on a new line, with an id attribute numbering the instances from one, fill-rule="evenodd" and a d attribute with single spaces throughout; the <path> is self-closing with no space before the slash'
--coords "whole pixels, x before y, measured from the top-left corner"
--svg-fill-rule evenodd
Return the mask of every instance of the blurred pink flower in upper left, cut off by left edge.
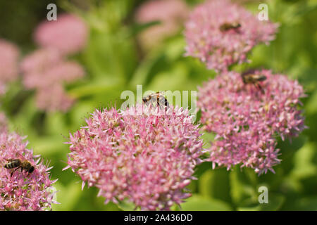
<path id="1" fill-rule="evenodd" d="M 6 92 L 6 83 L 18 78 L 18 47 L 0 39 L 0 94 Z"/>

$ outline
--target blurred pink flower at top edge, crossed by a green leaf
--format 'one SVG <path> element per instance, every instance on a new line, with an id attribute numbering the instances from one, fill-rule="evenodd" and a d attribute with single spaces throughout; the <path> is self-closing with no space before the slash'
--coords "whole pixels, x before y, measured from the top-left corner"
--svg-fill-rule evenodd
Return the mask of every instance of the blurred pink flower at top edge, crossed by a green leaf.
<path id="1" fill-rule="evenodd" d="M 149 27 L 139 35 L 145 48 L 158 44 L 164 38 L 180 30 L 187 18 L 189 8 L 182 0 L 152 0 L 139 7 L 136 15 L 138 23 L 159 21 L 161 24 Z"/>

